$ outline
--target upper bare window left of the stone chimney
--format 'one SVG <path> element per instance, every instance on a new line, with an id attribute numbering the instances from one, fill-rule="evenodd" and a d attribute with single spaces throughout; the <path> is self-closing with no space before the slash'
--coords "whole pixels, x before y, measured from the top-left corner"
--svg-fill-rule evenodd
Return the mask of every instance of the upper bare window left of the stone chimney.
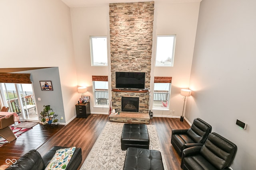
<path id="1" fill-rule="evenodd" d="M 92 66 L 108 65 L 108 50 L 106 36 L 90 36 Z"/>

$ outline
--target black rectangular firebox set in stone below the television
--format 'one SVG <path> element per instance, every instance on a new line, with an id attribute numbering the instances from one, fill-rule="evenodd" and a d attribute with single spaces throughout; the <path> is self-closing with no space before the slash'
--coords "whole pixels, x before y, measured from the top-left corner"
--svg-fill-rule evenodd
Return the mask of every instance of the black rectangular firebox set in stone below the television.
<path id="1" fill-rule="evenodd" d="M 122 97 L 122 111 L 139 112 L 139 98 Z"/>

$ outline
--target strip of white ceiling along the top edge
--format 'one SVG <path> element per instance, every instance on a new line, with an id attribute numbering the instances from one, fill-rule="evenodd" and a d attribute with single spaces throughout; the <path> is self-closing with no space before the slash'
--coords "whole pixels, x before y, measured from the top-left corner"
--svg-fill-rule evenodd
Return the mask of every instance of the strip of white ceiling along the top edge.
<path id="1" fill-rule="evenodd" d="M 62 0 L 70 8 L 88 7 L 88 6 L 102 6 L 110 3 L 123 2 L 146 2 L 153 0 Z M 192 3 L 201 2 L 202 0 L 154 0 L 155 3 Z"/>

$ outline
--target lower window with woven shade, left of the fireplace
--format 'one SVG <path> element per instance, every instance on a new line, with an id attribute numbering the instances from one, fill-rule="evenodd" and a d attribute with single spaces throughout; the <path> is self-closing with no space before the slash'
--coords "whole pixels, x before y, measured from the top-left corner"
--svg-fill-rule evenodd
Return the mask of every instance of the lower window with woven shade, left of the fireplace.
<path id="1" fill-rule="evenodd" d="M 94 103 L 96 106 L 108 106 L 108 76 L 92 76 Z"/>

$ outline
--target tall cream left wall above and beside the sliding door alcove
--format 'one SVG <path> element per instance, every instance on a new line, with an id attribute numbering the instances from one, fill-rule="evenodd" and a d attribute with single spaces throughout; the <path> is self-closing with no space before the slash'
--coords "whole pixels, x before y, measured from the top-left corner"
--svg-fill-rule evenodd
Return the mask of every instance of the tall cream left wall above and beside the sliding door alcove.
<path id="1" fill-rule="evenodd" d="M 1 0 L 0 21 L 0 68 L 58 67 L 70 120 L 78 97 L 70 9 L 60 0 Z"/>

